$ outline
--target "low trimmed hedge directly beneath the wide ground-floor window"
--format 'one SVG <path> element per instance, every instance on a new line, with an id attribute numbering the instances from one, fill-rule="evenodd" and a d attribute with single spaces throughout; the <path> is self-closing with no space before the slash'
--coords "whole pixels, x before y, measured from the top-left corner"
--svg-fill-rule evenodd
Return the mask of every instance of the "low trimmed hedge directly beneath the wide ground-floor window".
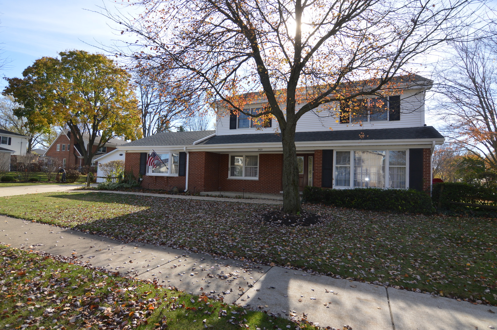
<path id="1" fill-rule="evenodd" d="M 417 190 L 354 188 L 324 189 L 306 187 L 303 200 L 309 203 L 324 203 L 337 207 L 365 210 L 432 214 L 435 211 L 431 198 Z"/>

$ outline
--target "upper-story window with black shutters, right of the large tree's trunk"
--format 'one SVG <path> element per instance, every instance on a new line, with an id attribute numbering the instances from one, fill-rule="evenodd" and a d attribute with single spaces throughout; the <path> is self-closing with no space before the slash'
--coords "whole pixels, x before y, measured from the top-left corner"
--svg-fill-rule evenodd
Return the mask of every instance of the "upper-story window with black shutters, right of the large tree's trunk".
<path id="1" fill-rule="evenodd" d="M 374 97 L 340 103 L 340 123 L 372 123 L 398 121 L 400 116 L 400 95 L 388 98 Z"/>

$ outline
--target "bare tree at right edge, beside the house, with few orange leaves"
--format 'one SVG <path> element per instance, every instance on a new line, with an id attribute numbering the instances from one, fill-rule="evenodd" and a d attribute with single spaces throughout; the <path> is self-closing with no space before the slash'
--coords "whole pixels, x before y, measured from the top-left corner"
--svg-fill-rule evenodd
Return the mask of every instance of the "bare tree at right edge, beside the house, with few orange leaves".
<path id="1" fill-rule="evenodd" d="M 453 45 L 440 66 L 437 111 L 452 143 L 497 171 L 497 38 L 495 35 Z"/>

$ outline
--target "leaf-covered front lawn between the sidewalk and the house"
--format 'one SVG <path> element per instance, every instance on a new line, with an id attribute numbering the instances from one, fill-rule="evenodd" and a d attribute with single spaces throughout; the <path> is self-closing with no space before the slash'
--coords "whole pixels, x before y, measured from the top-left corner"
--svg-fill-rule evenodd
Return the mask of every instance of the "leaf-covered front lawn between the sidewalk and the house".
<path id="1" fill-rule="evenodd" d="M 305 204 L 323 216 L 321 224 L 276 227 L 257 214 L 278 205 L 99 192 L 4 197 L 0 205 L 1 214 L 122 241 L 289 265 L 497 305 L 496 219 Z"/>

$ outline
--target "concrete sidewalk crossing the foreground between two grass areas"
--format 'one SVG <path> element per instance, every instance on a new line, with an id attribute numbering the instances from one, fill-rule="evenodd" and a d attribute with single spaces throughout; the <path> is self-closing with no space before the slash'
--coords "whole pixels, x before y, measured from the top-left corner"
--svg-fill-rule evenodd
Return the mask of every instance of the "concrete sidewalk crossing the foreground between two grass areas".
<path id="1" fill-rule="evenodd" d="M 228 303 L 237 302 L 282 317 L 289 318 L 292 311 L 298 315 L 306 313 L 308 320 L 321 327 L 342 329 L 348 325 L 353 330 L 497 328 L 497 307 L 315 276 L 278 266 L 219 259 L 169 247 L 124 244 L 102 236 L 4 216 L 0 216 L 0 242 L 53 255 L 76 255 L 93 266 L 142 279 L 157 278 L 159 283 L 193 294 L 220 295 Z"/>

